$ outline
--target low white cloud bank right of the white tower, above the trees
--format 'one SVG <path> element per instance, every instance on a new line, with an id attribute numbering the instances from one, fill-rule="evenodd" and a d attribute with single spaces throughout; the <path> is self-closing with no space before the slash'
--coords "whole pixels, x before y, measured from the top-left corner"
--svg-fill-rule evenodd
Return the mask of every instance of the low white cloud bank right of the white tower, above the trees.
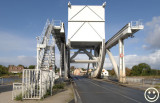
<path id="1" fill-rule="evenodd" d="M 119 57 L 114 56 L 119 65 Z M 132 66 L 137 65 L 139 63 L 147 63 L 153 69 L 160 69 L 160 50 L 156 50 L 155 52 L 149 55 L 125 55 L 125 65 L 126 67 L 132 68 Z M 112 69 L 112 64 L 108 58 L 105 60 L 104 68 Z"/>

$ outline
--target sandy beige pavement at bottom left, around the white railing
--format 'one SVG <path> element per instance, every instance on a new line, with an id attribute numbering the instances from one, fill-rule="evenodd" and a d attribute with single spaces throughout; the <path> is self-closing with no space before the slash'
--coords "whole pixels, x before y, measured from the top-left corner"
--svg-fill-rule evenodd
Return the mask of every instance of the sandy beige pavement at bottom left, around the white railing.
<path id="1" fill-rule="evenodd" d="M 74 103 L 73 88 L 65 87 L 65 91 L 48 96 L 43 100 L 12 100 L 12 85 L 0 85 L 0 103 Z"/>

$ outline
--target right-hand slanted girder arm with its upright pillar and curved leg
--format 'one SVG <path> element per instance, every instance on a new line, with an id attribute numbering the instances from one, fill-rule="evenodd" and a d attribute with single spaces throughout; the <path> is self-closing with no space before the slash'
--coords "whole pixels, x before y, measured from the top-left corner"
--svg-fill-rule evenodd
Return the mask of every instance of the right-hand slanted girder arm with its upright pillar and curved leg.
<path id="1" fill-rule="evenodd" d="M 125 70 L 125 62 L 124 62 L 124 39 L 128 37 L 133 37 L 133 34 L 141 29 L 144 26 L 139 21 L 131 22 L 126 24 L 119 32 L 117 32 L 111 39 L 109 39 L 105 43 L 106 52 L 109 55 L 109 58 L 113 64 L 114 71 L 120 82 L 126 82 L 126 70 Z M 110 52 L 110 48 L 119 43 L 119 68 L 116 64 L 112 53 Z"/>

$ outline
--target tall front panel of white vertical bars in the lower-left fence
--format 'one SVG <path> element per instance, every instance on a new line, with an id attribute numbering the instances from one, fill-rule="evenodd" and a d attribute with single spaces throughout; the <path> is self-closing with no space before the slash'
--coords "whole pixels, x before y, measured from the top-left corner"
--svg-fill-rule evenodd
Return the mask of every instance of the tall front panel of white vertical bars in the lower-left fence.
<path id="1" fill-rule="evenodd" d="M 40 99 L 41 95 L 41 70 L 24 69 L 22 78 L 23 99 Z"/>

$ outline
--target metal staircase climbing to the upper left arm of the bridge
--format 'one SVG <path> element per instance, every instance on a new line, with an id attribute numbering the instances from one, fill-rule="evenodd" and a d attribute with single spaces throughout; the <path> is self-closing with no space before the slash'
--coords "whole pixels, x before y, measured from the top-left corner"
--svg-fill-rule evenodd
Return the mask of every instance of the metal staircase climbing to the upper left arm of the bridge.
<path id="1" fill-rule="evenodd" d="M 37 69 L 49 70 L 55 67 L 55 40 L 51 36 L 53 24 L 48 20 L 37 42 Z"/>

